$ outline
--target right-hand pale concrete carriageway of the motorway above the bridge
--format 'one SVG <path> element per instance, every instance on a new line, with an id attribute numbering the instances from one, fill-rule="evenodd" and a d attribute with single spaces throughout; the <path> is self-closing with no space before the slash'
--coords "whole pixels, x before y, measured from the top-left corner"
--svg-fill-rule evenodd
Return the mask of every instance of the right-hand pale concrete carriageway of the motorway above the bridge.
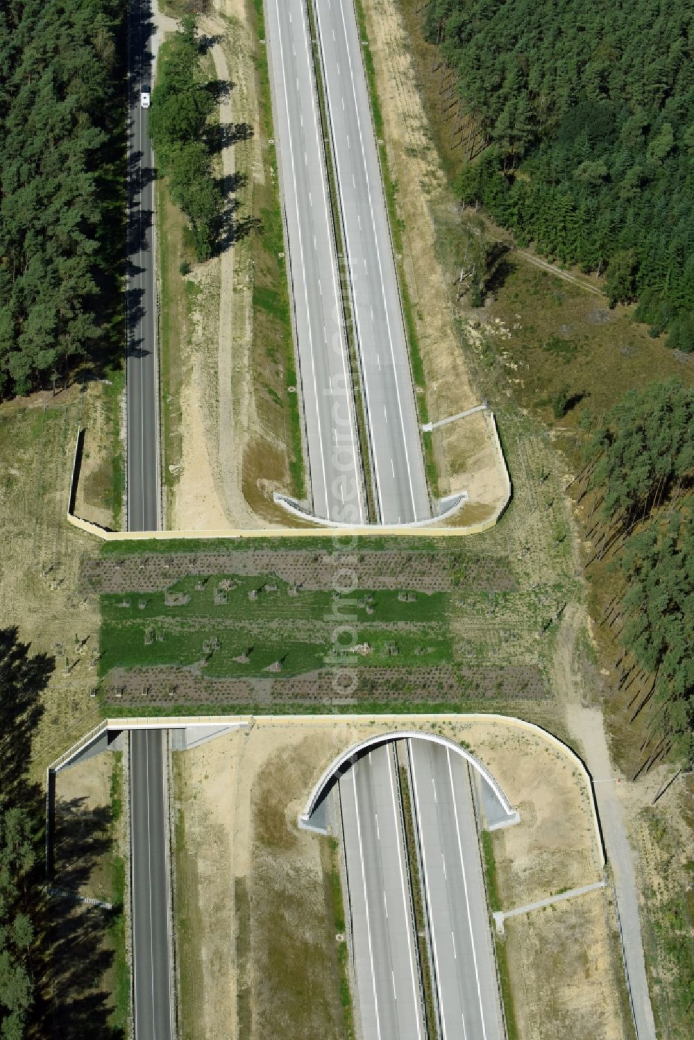
<path id="1" fill-rule="evenodd" d="M 275 0 L 273 0 L 275 2 Z M 352 0 L 311 0 L 326 85 L 378 520 L 431 517 L 361 43 Z"/>

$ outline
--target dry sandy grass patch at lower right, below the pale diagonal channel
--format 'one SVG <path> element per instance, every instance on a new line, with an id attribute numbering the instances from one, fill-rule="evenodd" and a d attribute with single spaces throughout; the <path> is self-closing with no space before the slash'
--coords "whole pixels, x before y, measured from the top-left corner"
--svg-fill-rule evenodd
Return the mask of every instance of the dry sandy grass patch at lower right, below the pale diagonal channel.
<path id="1" fill-rule="evenodd" d="M 521 1040 L 623 1040 L 601 890 L 505 922 Z"/>

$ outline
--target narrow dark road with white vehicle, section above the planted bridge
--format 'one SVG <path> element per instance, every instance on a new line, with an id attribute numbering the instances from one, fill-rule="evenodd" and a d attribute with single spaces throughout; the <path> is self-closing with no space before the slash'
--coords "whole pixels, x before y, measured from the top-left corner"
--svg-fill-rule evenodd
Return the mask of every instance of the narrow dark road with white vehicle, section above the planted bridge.
<path id="1" fill-rule="evenodd" d="M 155 530 L 159 525 L 154 159 L 148 112 L 139 104 L 142 85 L 152 85 L 152 33 L 150 0 L 131 0 L 126 287 L 128 530 Z"/>

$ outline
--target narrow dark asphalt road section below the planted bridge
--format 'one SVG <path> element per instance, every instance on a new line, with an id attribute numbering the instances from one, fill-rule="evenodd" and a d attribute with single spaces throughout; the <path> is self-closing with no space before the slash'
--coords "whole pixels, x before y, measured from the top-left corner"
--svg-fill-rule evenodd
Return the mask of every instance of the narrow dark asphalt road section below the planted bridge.
<path id="1" fill-rule="evenodd" d="M 135 1040 L 173 1040 L 164 730 L 130 733 L 130 885 Z"/>

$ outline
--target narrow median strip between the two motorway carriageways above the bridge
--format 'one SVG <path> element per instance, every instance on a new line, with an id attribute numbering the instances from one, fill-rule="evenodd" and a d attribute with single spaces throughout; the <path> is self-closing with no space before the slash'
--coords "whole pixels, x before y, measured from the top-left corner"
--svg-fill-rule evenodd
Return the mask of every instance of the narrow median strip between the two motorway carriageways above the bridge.
<path id="1" fill-rule="evenodd" d="M 320 112 L 320 129 L 323 133 L 323 139 L 330 140 L 330 122 L 328 119 L 328 106 L 326 100 L 326 87 L 323 79 L 323 64 L 320 61 L 320 53 L 318 49 L 318 34 L 315 24 L 315 12 L 313 10 L 313 4 L 311 2 L 306 4 L 306 9 L 308 11 L 309 30 L 311 35 L 311 45 L 313 50 L 313 69 L 315 72 L 317 95 L 318 95 L 318 108 Z M 348 278 L 348 267 L 346 267 L 346 252 L 344 249 L 344 240 L 342 237 L 342 222 L 340 218 L 340 209 L 337 197 L 337 182 L 335 180 L 335 167 L 333 164 L 333 154 L 330 147 L 324 147 L 324 156 L 326 161 L 326 171 L 328 175 L 328 193 L 330 197 L 330 208 L 332 210 L 333 217 L 333 232 L 335 234 L 335 246 L 337 252 L 337 264 L 338 272 L 340 279 L 340 293 L 342 296 L 342 313 L 344 315 L 344 328 L 348 338 L 348 348 L 350 354 L 350 374 L 352 378 L 353 387 L 361 387 L 361 393 L 355 391 L 354 401 L 355 401 L 355 412 L 357 415 L 357 435 L 359 438 L 359 451 L 361 458 L 361 467 L 363 473 L 364 490 L 366 493 L 366 509 L 368 511 L 368 516 L 376 520 L 378 513 L 376 510 L 376 496 L 374 492 L 375 482 L 374 474 L 371 471 L 371 453 L 369 449 L 370 438 L 368 436 L 368 426 L 366 424 L 366 411 L 364 408 L 364 391 L 361 380 L 361 368 L 359 365 L 359 358 L 357 355 L 357 330 L 354 322 L 354 315 L 352 313 L 352 298 L 350 295 L 350 284 Z M 340 260 L 340 258 L 342 258 Z"/>

